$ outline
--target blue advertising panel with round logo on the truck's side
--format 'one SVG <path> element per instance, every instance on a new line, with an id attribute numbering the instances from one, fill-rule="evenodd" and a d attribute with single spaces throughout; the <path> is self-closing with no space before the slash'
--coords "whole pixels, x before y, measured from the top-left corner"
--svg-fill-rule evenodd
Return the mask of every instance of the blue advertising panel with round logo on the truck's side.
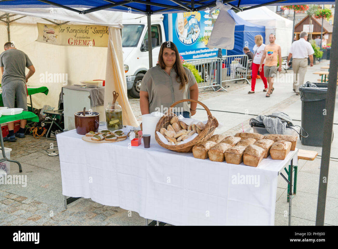
<path id="1" fill-rule="evenodd" d="M 206 47 L 219 10 L 215 13 L 214 19 L 209 17 L 209 11 L 172 14 L 173 42 L 183 59 L 217 57 L 218 48 Z M 226 55 L 226 49 L 222 49 L 222 55 Z"/>

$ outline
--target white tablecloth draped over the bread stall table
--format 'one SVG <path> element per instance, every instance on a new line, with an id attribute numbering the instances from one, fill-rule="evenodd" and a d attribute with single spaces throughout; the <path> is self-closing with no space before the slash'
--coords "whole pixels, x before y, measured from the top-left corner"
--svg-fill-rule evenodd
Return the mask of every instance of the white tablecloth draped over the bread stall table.
<path id="1" fill-rule="evenodd" d="M 157 143 L 134 147 L 129 138 L 90 143 L 75 130 L 56 137 L 63 195 L 173 225 L 274 225 L 278 172 L 292 158 L 297 165 L 298 149 L 283 161 L 269 156 L 256 168 L 196 159 Z M 242 175 L 256 176 L 256 184 L 240 184 Z"/>

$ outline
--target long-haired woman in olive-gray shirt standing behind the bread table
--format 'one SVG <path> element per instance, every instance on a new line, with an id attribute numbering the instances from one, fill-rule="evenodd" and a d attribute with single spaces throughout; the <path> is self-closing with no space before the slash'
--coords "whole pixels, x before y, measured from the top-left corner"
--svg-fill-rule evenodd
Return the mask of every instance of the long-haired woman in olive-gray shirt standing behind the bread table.
<path id="1" fill-rule="evenodd" d="M 179 100 L 198 100 L 198 85 L 190 69 L 180 61 L 177 47 L 166 41 L 161 45 L 159 61 L 144 75 L 140 91 L 140 107 L 142 115 L 153 111 L 165 112 L 173 103 Z M 176 115 L 189 118 L 195 115 L 197 103 L 177 104 L 173 108 Z"/>

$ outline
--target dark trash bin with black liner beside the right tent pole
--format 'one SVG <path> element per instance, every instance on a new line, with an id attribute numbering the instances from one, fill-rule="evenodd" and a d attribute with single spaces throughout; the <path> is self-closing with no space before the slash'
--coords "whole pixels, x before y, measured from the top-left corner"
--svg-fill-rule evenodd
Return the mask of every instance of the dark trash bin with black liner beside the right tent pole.
<path id="1" fill-rule="evenodd" d="M 301 138 L 301 144 L 310 146 L 323 145 L 324 118 L 326 115 L 325 102 L 328 92 L 327 83 L 306 82 L 299 87 L 301 100 L 301 127 L 309 134 Z M 303 134 L 304 131 L 301 131 Z M 333 140 L 333 131 L 332 139 Z"/>

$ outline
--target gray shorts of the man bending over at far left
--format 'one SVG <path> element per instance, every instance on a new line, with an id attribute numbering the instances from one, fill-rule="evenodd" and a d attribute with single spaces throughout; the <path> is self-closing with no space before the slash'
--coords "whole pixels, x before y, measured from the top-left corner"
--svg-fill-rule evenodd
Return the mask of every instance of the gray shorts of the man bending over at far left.
<path id="1" fill-rule="evenodd" d="M 13 80 L 2 86 L 3 106 L 14 108 L 15 97 L 17 97 L 17 107 L 27 111 L 26 84 L 22 80 Z"/>

